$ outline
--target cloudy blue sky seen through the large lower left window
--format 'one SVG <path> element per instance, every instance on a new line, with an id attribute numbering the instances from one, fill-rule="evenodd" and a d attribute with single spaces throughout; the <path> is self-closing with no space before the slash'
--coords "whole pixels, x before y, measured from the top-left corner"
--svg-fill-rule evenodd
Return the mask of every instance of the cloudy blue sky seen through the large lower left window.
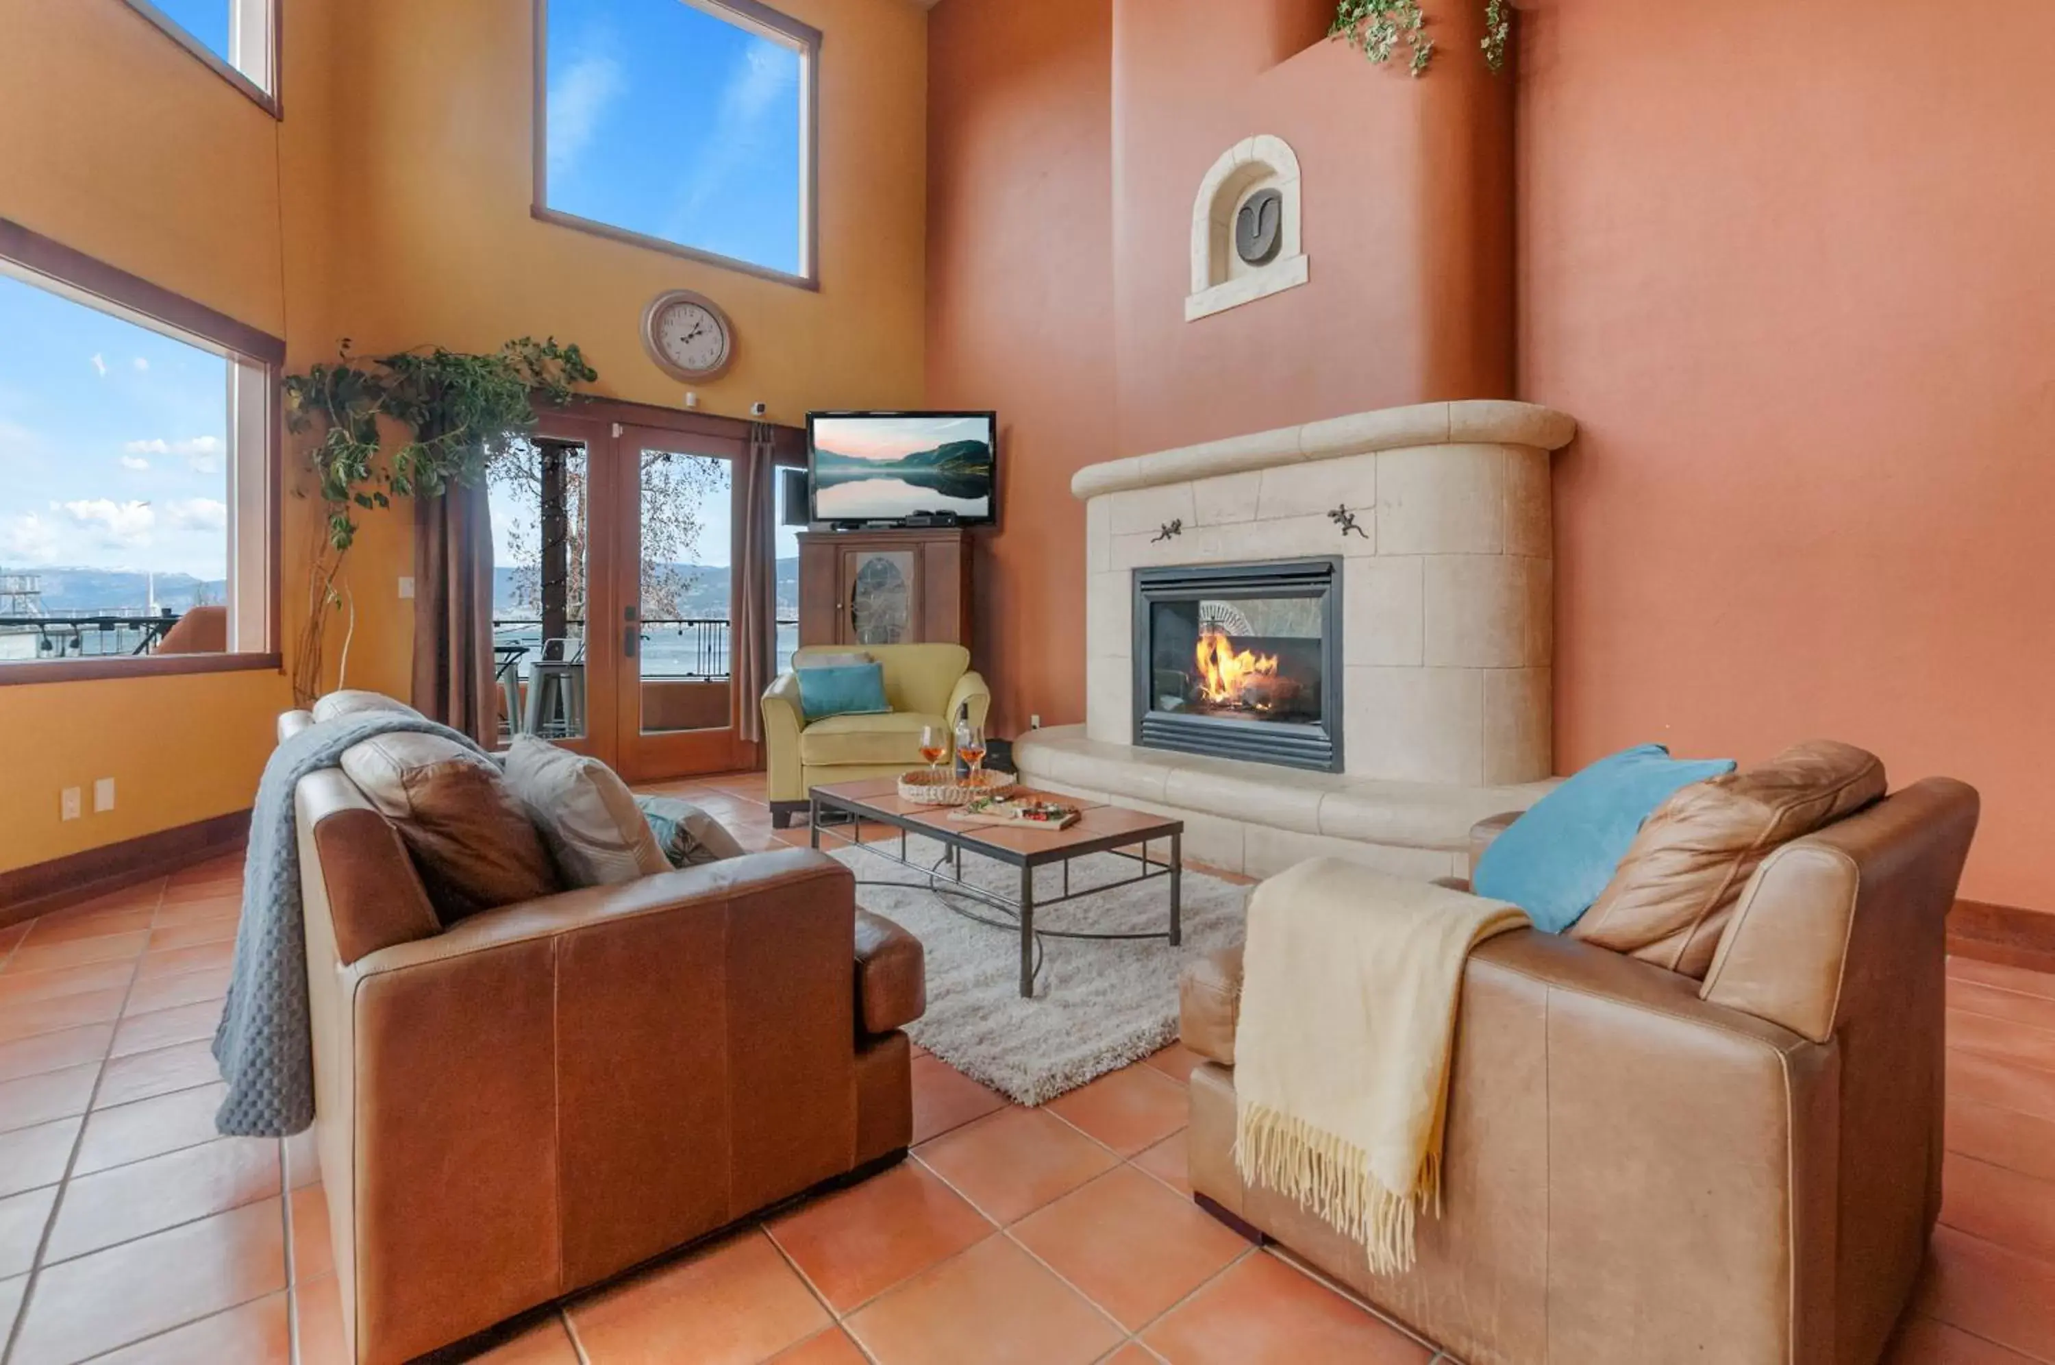
<path id="1" fill-rule="evenodd" d="M 0 565 L 228 574 L 228 362 L 0 273 Z"/>

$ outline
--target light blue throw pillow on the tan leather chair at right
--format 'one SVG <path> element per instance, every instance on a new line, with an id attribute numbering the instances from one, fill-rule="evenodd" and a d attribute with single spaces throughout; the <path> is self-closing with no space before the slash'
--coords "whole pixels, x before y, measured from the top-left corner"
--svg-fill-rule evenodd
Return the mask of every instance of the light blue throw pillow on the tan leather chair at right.
<path id="1" fill-rule="evenodd" d="M 1660 744 L 1599 759 L 1494 839 L 1469 888 L 1521 907 L 1535 929 L 1562 933 L 1613 880 L 1642 820 L 1671 791 L 1732 771 L 1732 759 L 1671 759 Z"/>

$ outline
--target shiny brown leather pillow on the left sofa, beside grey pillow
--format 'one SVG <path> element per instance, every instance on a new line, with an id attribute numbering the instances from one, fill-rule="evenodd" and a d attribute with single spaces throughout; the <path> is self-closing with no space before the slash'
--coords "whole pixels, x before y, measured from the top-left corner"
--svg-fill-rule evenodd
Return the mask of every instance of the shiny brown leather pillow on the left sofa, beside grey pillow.
<path id="1" fill-rule="evenodd" d="M 343 773 L 407 841 L 444 925 L 563 890 L 491 759 L 436 734 L 380 734 L 343 752 Z"/>

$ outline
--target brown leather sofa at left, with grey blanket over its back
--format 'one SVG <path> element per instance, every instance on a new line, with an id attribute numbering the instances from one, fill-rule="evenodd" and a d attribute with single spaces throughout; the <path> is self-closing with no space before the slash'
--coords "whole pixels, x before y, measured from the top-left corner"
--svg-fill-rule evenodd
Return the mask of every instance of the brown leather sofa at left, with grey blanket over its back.
<path id="1" fill-rule="evenodd" d="M 296 808 L 314 1133 L 362 1365 L 904 1155 L 921 944 L 857 911 L 834 859 L 754 853 L 438 931 L 341 769 Z M 386 946 L 337 948 L 366 939 Z"/>

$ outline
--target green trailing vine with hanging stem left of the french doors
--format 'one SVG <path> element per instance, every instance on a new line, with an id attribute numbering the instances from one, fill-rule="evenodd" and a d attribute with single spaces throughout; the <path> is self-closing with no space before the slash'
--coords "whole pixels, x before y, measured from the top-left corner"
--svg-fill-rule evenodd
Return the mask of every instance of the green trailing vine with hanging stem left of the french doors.
<path id="1" fill-rule="evenodd" d="M 563 407 L 577 384 L 596 378 L 584 354 L 555 337 L 518 337 L 485 356 L 440 345 L 351 356 L 345 337 L 333 364 L 286 376 L 286 428 L 321 432 L 308 463 L 323 532 L 308 565 L 308 611 L 292 680 L 302 705 L 323 682 L 327 613 L 349 606 L 341 571 L 358 539 L 358 514 L 390 508 L 395 497 L 434 497 L 452 485 L 481 483 L 493 458 L 534 432 L 536 399 Z M 405 440 L 380 463 L 386 428 L 399 428 Z M 347 660 L 345 633 L 343 668 Z"/>

